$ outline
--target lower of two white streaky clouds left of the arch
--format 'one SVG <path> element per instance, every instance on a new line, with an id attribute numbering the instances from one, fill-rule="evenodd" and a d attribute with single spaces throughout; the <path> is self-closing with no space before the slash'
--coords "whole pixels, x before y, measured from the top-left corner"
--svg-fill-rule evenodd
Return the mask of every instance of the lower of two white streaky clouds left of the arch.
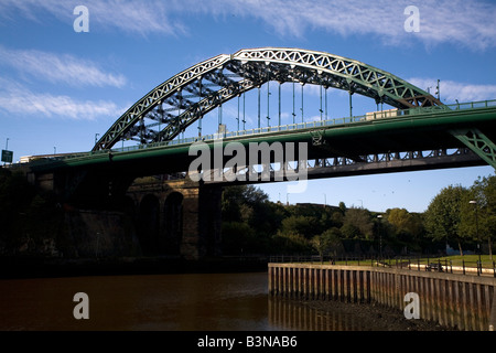
<path id="1" fill-rule="evenodd" d="M 0 78 L 0 109 L 17 116 L 58 116 L 93 120 L 98 117 L 118 117 L 125 111 L 112 101 L 80 101 L 64 95 L 33 93 L 20 84 L 3 78 Z"/>

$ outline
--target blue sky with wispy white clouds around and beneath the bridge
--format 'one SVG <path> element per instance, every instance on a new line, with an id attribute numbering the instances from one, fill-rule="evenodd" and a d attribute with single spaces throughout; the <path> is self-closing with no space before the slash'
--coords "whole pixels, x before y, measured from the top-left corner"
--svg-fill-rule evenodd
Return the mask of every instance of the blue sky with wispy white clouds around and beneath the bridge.
<path id="1" fill-rule="evenodd" d="M 440 79 L 445 104 L 496 99 L 495 19 L 489 0 L 0 0 L 0 147 L 12 150 L 14 161 L 89 151 L 157 85 L 250 47 L 327 52 L 431 93 Z M 265 96 L 272 89 L 263 107 L 270 103 L 273 116 L 276 84 L 261 89 Z M 304 89 L 304 119 L 317 119 L 320 90 Z M 331 90 L 330 116 L 347 116 L 347 95 Z M 283 124 L 290 124 L 290 84 L 282 92 Z M 370 99 L 354 99 L 354 115 L 376 110 Z M 223 109 L 227 128 L 236 130 L 236 101 Z M 256 119 L 251 106 L 248 125 Z M 204 120 L 207 133 L 216 113 Z M 288 183 L 260 188 L 274 202 L 423 212 L 443 188 L 488 175 L 493 168 L 474 167 L 309 181 L 299 193 L 289 193 Z"/>

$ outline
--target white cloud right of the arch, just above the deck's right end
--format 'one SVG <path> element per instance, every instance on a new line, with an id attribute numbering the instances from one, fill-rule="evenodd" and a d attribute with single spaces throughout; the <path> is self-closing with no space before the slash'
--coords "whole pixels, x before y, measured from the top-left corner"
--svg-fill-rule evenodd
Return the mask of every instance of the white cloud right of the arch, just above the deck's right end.
<path id="1" fill-rule="evenodd" d="M 413 77 L 407 81 L 425 92 L 428 87 L 431 87 L 431 94 L 435 94 L 438 81 L 434 78 Z M 441 100 L 449 104 L 455 103 L 455 99 L 460 103 L 490 100 L 496 97 L 496 85 L 477 85 L 446 79 L 440 82 L 440 94 Z"/>

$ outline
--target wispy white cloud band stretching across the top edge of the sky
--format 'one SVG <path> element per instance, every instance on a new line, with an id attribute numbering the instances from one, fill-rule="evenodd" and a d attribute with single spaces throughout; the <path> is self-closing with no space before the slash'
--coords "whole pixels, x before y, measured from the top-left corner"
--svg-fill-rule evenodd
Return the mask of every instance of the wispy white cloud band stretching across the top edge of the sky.
<path id="1" fill-rule="evenodd" d="M 31 20 L 51 13 L 68 23 L 79 0 L 2 0 L 0 15 L 19 11 Z M 417 6 L 420 32 L 407 33 L 405 9 Z M 451 43 L 472 50 L 494 47 L 496 4 L 486 0 L 87 0 L 90 31 L 117 29 L 127 33 L 180 35 L 187 32 L 192 14 L 236 14 L 262 21 L 282 36 L 311 35 L 324 30 L 344 36 L 375 35 L 381 44 L 397 46 L 421 41 L 427 45 Z M 42 11 L 40 11 L 42 10 Z M 41 13 L 40 13 L 41 12 Z"/>

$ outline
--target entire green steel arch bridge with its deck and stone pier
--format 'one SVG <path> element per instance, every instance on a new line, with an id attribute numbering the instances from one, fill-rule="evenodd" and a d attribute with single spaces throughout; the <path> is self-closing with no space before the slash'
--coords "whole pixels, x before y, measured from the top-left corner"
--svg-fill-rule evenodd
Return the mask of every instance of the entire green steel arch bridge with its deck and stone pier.
<path id="1" fill-rule="evenodd" d="M 271 117 L 267 107 L 267 116 L 262 117 L 261 87 L 267 86 L 268 106 L 272 94 L 270 84 L 277 87 L 272 93 L 279 98 L 278 111 Z M 292 109 L 289 108 L 292 124 L 285 125 L 282 124 L 281 108 L 283 84 L 292 85 Z M 296 121 L 295 84 L 302 92 L 305 85 L 320 88 L 320 117 L 316 119 L 305 119 L 302 94 L 301 121 Z M 347 117 L 328 117 L 328 88 L 348 94 Z M 246 94 L 250 90 L 258 93 L 257 103 L 251 104 L 258 111 L 257 125 L 246 128 L 241 106 L 245 110 Z M 353 115 L 354 95 L 373 99 L 377 109 Z M 227 131 L 223 105 L 236 99 L 237 117 L 230 124 L 237 128 Z M 385 104 L 390 109 L 384 110 Z M 205 135 L 206 122 L 203 120 L 214 110 L 217 110 L 218 130 Z M 271 124 L 273 120 L 277 122 Z M 196 129 L 194 124 L 197 124 Z M 184 137 L 187 131 L 191 136 Z M 125 147 L 129 141 L 138 143 Z M 246 151 L 254 143 L 269 147 L 280 143 L 283 147 L 282 159 L 276 156 L 274 149 L 269 149 L 268 158 L 241 158 L 236 159 L 235 165 L 229 164 L 230 173 L 237 176 L 235 182 L 256 183 L 290 180 L 284 173 L 282 179 L 277 179 L 280 175 L 278 168 L 305 170 L 308 179 L 483 164 L 496 169 L 494 141 L 496 100 L 444 105 L 400 77 L 355 60 L 300 49 L 263 47 L 217 55 L 186 68 L 131 106 L 90 151 L 33 159 L 28 164 L 28 173 L 33 182 L 54 190 L 62 202 L 82 208 L 122 207 L 126 200 L 129 201 L 129 188 L 137 178 L 180 173 L 184 178 L 183 186 L 177 184 L 171 191 L 175 206 L 165 206 L 166 197 L 157 196 L 160 203 L 154 201 L 141 212 L 158 212 L 159 218 L 165 220 L 168 215 L 164 213 L 176 210 L 176 221 L 169 228 L 180 235 L 172 243 L 176 244 L 179 253 L 193 252 L 194 257 L 198 257 L 207 252 L 198 250 L 203 246 L 202 238 L 211 239 L 204 244 L 211 244 L 205 246 L 212 249 L 219 242 L 218 229 L 213 229 L 211 235 L 201 234 L 203 226 L 200 224 L 218 223 L 218 215 L 212 210 L 218 204 L 220 192 L 213 190 L 219 190 L 233 179 L 225 178 L 229 172 L 224 173 L 220 180 L 205 178 L 208 171 L 219 169 L 213 160 L 209 165 L 190 170 L 198 157 L 192 152 L 197 151 L 197 146 L 215 154 L 216 148 L 225 151 L 229 143 Z M 122 143 L 120 148 L 119 143 Z M 295 145 L 304 146 L 304 153 L 290 153 L 288 148 Z M 223 170 L 233 160 L 233 154 L 216 156 L 220 156 Z M 195 173 L 203 176 L 196 184 L 191 181 Z M 241 175 L 248 176 L 239 178 Z M 209 196 L 202 197 L 204 192 Z M 202 206 L 202 200 L 206 199 L 212 204 Z M 140 208 L 143 201 L 134 193 L 134 200 L 128 204 Z M 211 215 L 203 220 L 202 215 L 198 216 L 202 213 L 200 208 L 211 210 Z M 179 214 L 177 210 L 182 213 Z M 143 220 L 142 223 L 147 223 Z M 166 223 L 164 220 L 160 224 Z M 179 220 L 191 220 L 195 225 L 186 232 L 185 222 Z M 161 227 L 157 226 L 153 232 L 161 233 Z M 153 242 L 149 247 L 154 247 Z M 186 247 L 190 250 L 185 250 Z"/>

